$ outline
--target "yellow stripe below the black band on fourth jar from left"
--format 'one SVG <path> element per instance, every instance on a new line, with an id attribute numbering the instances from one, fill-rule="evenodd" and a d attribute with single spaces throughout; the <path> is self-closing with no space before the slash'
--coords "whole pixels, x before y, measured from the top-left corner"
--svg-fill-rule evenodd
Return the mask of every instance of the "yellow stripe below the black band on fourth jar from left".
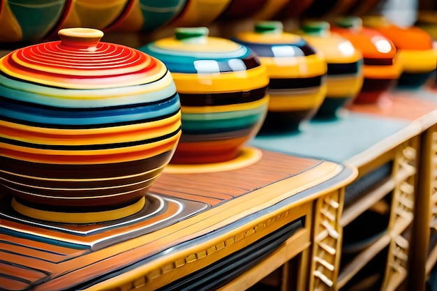
<path id="1" fill-rule="evenodd" d="M 348 77 L 330 77 L 328 75 L 326 79 L 326 96 L 330 98 L 355 96 L 360 92 L 363 80 L 362 74 Z"/>

